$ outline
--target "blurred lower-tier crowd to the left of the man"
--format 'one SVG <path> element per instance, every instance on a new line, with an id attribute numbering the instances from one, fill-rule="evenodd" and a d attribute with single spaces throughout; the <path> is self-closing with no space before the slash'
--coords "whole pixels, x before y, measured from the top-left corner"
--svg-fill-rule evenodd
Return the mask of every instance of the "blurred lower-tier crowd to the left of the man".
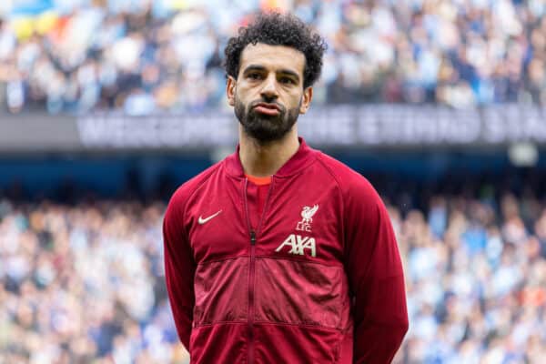
<path id="1" fill-rule="evenodd" d="M 0 363 L 187 363 L 163 204 L 0 203 Z"/>

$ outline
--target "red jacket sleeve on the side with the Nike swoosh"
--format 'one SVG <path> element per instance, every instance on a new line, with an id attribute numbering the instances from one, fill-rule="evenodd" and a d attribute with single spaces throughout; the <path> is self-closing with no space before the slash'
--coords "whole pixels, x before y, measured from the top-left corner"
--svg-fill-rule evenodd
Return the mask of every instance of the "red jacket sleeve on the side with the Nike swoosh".
<path id="1" fill-rule="evenodd" d="M 189 351 L 195 304 L 195 262 L 183 226 L 184 201 L 178 192 L 171 198 L 163 220 L 165 278 L 178 337 Z"/>

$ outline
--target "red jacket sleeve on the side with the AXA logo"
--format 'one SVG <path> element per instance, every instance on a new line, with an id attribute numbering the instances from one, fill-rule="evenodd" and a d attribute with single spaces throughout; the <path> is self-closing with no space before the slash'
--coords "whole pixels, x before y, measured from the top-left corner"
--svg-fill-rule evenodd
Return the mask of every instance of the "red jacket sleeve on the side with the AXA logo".
<path id="1" fill-rule="evenodd" d="M 345 196 L 345 253 L 354 299 L 355 363 L 389 363 L 409 326 L 399 248 L 386 207 L 360 177 Z"/>

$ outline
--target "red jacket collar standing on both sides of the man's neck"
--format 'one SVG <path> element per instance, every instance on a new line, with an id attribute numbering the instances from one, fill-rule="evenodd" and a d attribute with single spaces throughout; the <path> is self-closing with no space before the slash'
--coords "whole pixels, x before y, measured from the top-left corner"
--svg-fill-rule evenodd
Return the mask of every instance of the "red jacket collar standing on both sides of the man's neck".
<path id="1" fill-rule="evenodd" d="M 308 167 L 313 161 L 315 161 L 319 151 L 308 147 L 303 137 L 299 136 L 299 148 L 296 154 L 285 163 L 280 169 L 278 169 L 275 177 L 288 177 L 292 176 L 303 168 Z M 245 177 L 245 172 L 241 160 L 238 157 L 240 145 L 237 146 L 237 150 L 232 155 L 226 157 L 224 164 L 227 168 L 227 173 L 233 177 Z"/>

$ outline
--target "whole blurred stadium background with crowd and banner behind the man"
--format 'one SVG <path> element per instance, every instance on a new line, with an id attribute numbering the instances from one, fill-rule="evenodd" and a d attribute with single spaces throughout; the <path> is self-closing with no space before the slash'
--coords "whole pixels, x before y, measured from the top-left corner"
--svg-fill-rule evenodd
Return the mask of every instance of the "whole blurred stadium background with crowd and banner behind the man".
<path id="1" fill-rule="evenodd" d="M 3 0 L 0 363 L 185 363 L 174 189 L 231 152 L 223 46 L 281 8 L 329 43 L 301 134 L 374 184 L 397 363 L 546 360 L 546 2 Z"/>

